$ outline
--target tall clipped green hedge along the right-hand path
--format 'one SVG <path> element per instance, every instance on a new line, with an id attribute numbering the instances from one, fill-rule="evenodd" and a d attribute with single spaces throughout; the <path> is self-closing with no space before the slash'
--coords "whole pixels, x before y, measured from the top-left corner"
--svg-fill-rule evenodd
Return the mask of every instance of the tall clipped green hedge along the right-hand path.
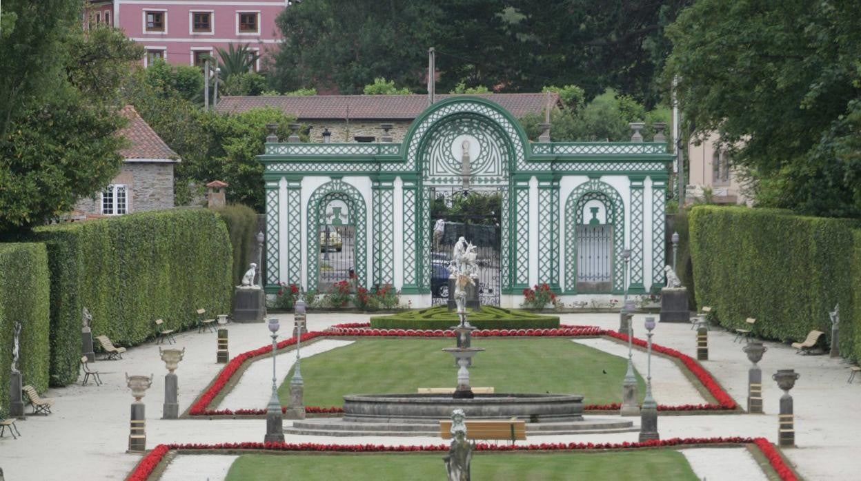
<path id="1" fill-rule="evenodd" d="M 851 268 L 857 226 L 852 220 L 771 209 L 694 207 L 690 231 L 697 304 L 713 306 L 728 328 L 756 318 L 757 336 L 801 341 L 810 330 L 822 330 L 831 342 L 828 312 L 839 302 L 840 351 L 858 359 Z"/>

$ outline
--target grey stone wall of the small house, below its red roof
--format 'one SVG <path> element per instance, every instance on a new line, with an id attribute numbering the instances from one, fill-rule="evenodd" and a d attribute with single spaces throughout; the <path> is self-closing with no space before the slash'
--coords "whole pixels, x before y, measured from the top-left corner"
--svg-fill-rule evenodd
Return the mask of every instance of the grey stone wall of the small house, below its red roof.
<path id="1" fill-rule="evenodd" d="M 128 186 L 128 213 L 173 207 L 173 163 L 124 163 L 112 184 Z M 101 213 L 101 193 L 78 200 L 75 210 Z"/>

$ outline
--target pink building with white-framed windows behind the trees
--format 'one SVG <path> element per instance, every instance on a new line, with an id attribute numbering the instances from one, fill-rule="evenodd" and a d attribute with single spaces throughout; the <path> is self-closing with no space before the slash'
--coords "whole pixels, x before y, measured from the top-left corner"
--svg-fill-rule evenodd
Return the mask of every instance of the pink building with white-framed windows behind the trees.
<path id="1" fill-rule="evenodd" d="M 276 17 L 290 1 L 231 0 L 90 0 L 89 24 L 108 23 L 125 30 L 146 48 L 142 59 L 170 64 L 201 64 L 201 56 L 216 47 L 248 45 L 266 52 L 281 41 Z M 257 61 L 257 69 L 260 61 Z"/>

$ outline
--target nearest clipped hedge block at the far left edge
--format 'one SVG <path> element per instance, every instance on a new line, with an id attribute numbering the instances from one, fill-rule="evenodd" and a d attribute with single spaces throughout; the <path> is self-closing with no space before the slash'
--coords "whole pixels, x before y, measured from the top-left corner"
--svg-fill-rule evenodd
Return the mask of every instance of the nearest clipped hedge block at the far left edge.
<path id="1" fill-rule="evenodd" d="M 15 321 L 24 385 L 48 386 L 48 261 L 45 244 L 0 244 L 0 410 L 9 412 Z"/>

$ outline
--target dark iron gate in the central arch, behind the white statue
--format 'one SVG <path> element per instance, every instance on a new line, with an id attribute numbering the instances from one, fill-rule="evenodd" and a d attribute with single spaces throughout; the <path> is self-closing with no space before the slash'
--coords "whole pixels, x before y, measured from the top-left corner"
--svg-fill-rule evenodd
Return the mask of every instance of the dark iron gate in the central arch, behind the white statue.
<path id="1" fill-rule="evenodd" d="M 459 199 L 459 196 L 462 197 Z M 471 201 L 468 199 L 469 196 L 487 198 L 473 198 Z M 463 237 L 477 247 L 475 251 L 480 305 L 499 306 L 502 278 L 499 262 L 501 196 L 498 191 L 443 193 L 437 190 L 433 193 L 432 199 L 434 205 L 431 208 L 430 225 L 431 304 L 444 305 L 449 299 L 449 261 L 457 240 Z M 487 206 L 497 207 L 487 208 Z"/>

